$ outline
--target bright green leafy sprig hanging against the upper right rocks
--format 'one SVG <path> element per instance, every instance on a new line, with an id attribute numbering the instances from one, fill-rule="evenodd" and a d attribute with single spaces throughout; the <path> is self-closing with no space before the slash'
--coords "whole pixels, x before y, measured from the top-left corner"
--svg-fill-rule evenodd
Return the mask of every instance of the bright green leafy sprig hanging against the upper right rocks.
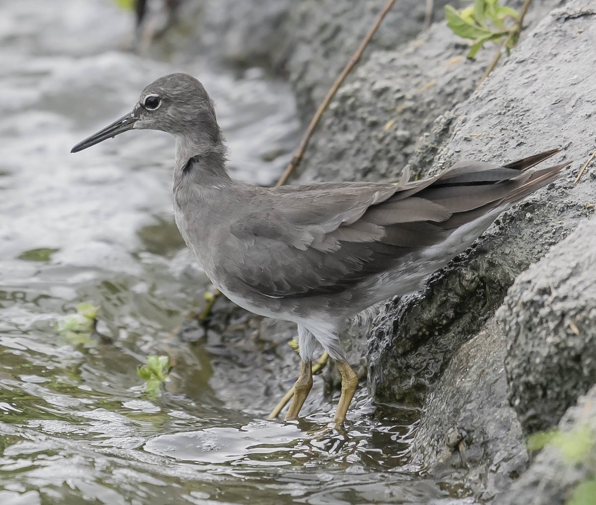
<path id="1" fill-rule="evenodd" d="M 455 35 L 472 40 L 468 58 L 474 58 L 479 49 L 490 40 L 505 37 L 504 46 L 509 52 L 519 39 L 520 13 L 511 7 L 499 5 L 499 0 L 474 0 L 473 5 L 461 12 L 446 5 L 445 18 L 447 26 Z"/>

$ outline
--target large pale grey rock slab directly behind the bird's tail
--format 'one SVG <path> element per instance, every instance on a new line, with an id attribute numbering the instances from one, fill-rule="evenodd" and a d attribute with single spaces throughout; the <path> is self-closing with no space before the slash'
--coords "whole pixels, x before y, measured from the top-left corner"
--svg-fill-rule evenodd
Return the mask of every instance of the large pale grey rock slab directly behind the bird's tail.
<path id="1" fill-rule="evenodd" d="M 457 124 L 440 161 L 508 161 L 557 144 L 566 148 L 565 158 L 589 156 L 596 138 L 596 125 L 587 120 L 596 103 L 589 71 L 596 23 L 588 4 L 576 0 L 548 15 L 455 109 Z M 386 304 L 369 350 L 368 384 L 379 400 L 420 401 L 462 342 L 502 303 L 516 276 L 592 213 L 585 205 L 594 199 L 596 179 L 584 176 L 573 186 L 577 171 L 576 164 L 560 182 L 502 215 L 458 258 L 461 267 L 447 267 L 422 294 Z"/>

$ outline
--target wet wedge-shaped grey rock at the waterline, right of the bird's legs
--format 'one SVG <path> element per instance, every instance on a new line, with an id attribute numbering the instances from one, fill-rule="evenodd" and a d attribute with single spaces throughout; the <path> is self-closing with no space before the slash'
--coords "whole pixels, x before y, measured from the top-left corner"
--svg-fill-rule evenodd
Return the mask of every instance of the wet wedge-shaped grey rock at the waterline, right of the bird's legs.
<path id="1" fill-rule="evenodd" d="M 412 446 L 418 464 L 435 478 L 448 476 L 482 500 L 527 465 L 522 429 L 507 401 L 506 340 L 491 319 L 461 346 L 424 404 Z"/>

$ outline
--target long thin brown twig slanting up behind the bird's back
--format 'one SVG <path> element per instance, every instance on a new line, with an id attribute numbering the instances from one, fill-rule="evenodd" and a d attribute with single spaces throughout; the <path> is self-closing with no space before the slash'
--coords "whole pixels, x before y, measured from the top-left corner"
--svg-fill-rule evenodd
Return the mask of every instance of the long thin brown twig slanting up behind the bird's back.
<path id="1" fill-rule="evenodd" d="M 383 7 L 383 10 L 378 15 L 377 20 L 374 22 L 373 27 L 371 27 L 367 35 L 364 37 L 364 39 L 362 39 L 362 42 L 360 43 L 358 49 L 356 49 L 356 52 L 352 55 L 350 61 L 347 62 L 347 65 L 342 70 L 342 73 L 339 74 L 336 81 L 333 83 L 333 86 L 331 86 L 331 88 L 327 92 L 327 95 L 325 95 L 325 98 L 323 99 L 321 105 L 319 105 L 319 108 L 316 110 L 315 115 L 312 117 L 311 123 L 308 125 L 308 128 L 306 129 L 306 133 L 302 137 L 300 145 L 294 153 L 294 157 L 290 161 L 290 164 L 288 164 L 284 173 L 281 175 L 280 180 L 277 181 L 276 186 L 283 186 L 285 182 L 288 180 L 288 177 L 290 177 L 292 170 L 294 170 L 299 165 L 300 160 L 302 160 L 304 152 L 306 151 L 306 146 L 308 146 L 308 141 L 311 139 L 312 133 L 315 130 L 316 125 L 319 123 L 321 116 L 327 109 L 329 102 L 331 102 L 331 99 L 333 99 L 333 97 L 335 96 L 337 89 L 339 89 L 344 79 L 346 79 L 347 74 L 350 73 L 350 70 L 352 70 L 355 64 L 358 63 L 358 61 L 362 57 L 364 49 L 366 49 L 368 43 L 371 41 L 373 35 L 380 26 L 381 21 L 383 21 L 383 18 L 389 12 L 390 8 L 392 8 L 393 4 L 395 4 L 395 0 L 389 0 L 385 7 Z"/>

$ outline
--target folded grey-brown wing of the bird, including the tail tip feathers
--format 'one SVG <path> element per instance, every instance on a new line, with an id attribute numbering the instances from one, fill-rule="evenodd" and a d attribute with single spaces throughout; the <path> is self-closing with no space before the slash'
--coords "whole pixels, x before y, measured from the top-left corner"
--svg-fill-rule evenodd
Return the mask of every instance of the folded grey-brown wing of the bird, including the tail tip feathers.
<path id="1" fill-rule="evenodd" d="M 566 164 L 526 169 L 555 152 L 503 167 L 464 161 L 439 176 L 399 185 L 247 189 L 258 210 L 232 223 L 221 241 L 227 280 L 272 298 L 338 294 L 551 182 Z"/>

